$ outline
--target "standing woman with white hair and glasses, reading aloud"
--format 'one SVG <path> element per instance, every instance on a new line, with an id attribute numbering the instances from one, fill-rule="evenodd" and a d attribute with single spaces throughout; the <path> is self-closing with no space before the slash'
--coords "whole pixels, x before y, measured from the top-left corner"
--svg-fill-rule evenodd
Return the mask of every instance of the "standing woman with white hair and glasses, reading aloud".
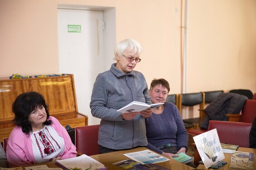
<path id="1" fill-rule="evenodd" d="M 100 153 L 148 145 L 144 118 L 151 116 L 152 109 L 117 112 L 132 101 L 151 104 L 145 77 L 133 70 L 141 61 L 141 52 L 142 47 L 133 39 L 119 42 L 114 50 L 116 63 L 95 80 L 90 108 L 94 117 L 101 118 L 98 132 Z"/>

